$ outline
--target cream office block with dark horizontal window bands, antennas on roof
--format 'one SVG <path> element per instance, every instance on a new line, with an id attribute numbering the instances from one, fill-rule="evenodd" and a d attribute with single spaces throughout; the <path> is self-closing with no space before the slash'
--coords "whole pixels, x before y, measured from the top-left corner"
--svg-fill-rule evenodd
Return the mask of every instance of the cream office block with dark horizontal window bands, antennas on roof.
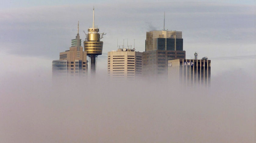
<path id="1" fill-rule="evenodd" d="M 135 79 L 141 76 L 142 52 L 117 49 L 108 52 L 108 76 L 113 79 Z"/>

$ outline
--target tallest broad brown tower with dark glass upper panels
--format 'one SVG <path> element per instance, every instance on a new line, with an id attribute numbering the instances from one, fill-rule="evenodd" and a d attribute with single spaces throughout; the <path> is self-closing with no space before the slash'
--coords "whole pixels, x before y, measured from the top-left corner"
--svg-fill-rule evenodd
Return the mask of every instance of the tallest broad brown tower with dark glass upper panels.
<path id="1" fill-rule="evenodd" d="M 185 59 L 182 32 L 147 32 L 145 52 L 143 52 L 143 71 L 145 77 L 167 75 L 167 63 L 172 59 Z"/>

